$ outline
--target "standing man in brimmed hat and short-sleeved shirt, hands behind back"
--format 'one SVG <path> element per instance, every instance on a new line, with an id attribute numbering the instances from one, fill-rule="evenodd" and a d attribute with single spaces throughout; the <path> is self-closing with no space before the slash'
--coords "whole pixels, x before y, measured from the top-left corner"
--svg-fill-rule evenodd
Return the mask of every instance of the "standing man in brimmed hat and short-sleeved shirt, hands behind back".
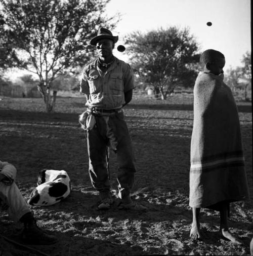
<path id="1" fill-rule="evenodd" d="M 90 44 L 96 46 L 98 58 L 82 71 L 80 92 L 87 98 L 87 111 L 79 117 L 87 131 L 89 173 L 93 187 L 99 191 L 98 209 L 108 209 L 113 203 L 109 182 L 109 147 L 117 154 L 118 207 L 146 210 L 134 203 L 130 192 L 136 172 L 135 157 L 122 107 L 133 95 L 134 75 L 129 64 L 112 54 L 118 36 L 100 28 Z"/>

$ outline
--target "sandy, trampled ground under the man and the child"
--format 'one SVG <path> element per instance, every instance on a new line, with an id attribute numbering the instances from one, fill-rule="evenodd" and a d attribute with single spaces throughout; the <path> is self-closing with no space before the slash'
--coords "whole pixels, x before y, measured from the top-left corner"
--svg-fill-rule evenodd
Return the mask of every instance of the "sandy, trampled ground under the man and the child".
<path id="1" fill-rule="evenodd" d="M 56 113 L 44 113 L 41 99 L 2 97 L 0 100 L 0 156 L 18 169 L 17 184 L 28 198 L 36 187 L 39 170 L 68 172 L 72 191 L 62 202 L 31 207 L 40 227 L 57 235 L 59 242 L 35 248 L 52 256 L 77 255 L 246 255 L 253 236 L 252 202 L 231 206 L 230 231 L 245 245 L 219 236 L 218 212 L 201 210 L 203 238 L 189 238 L 190 139 L 193 124 L 192 94 L 176 94 L 166 101 L 134 97 L 124 109 L 138 172 L 132 198 L 148 207 L 144 213 L 119 210 L 116 205 L 98 211 L 97 192 L 88 174 L 85 134 L 78 124 L 83 98 L 58 98 Z M 252 190 L 252 115 L 250 102 L 237 102 L 241 122 L 246 171 Z M 116 158 L 110 152 L 112 193 L 117 197 Z M 18 235 L 6 212 L 0 212 L 2 235 Z M 12 255 L 35 256 L 1 241 Z"/>

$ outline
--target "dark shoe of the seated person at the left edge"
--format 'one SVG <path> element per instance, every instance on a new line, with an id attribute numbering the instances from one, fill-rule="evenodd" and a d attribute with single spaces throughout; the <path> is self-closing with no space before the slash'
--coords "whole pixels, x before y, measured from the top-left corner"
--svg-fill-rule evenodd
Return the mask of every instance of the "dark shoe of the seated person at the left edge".
<path id="1" fill-rule="evenodd" d="M 33 245 L 54 244 L 58 241 L 55 236 L 49 235 L 44 230 L 40 229 L 36 223 L 29 226 L 26 225 L 21 236 L 25 243 Z"/>

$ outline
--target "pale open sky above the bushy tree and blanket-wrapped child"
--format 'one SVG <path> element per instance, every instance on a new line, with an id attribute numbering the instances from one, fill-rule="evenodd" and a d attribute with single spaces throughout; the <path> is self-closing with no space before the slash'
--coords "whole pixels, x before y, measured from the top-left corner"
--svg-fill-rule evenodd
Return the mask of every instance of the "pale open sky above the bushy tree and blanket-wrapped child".
<path id="1" fill-rule="evenodd" d="M 215 49 L 226 58 L 224 70 L 241 66 L 242 55 L 251 51 L 250 0 L 111 0 L 107 15 L 121 13 L 112 31 L 120 38 L 132 31 L 147 32 L 157 28 L 189 27 L 199 43 L 200 52 Z M 212 22 L 212 26 L 206 23 Z M 116 47 L 115 47 L 116 49 Z M 114 55 L 128 60 L 124 53 Z"/>

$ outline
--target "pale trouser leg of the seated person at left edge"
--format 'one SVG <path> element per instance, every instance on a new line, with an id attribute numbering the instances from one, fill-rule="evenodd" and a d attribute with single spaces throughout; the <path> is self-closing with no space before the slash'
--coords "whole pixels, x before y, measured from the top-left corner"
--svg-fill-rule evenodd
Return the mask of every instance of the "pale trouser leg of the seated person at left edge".
<path id="1" fill-rule="evenodd" d="M 9 205 L 7 211 L 9 217 L 14 222 L 18 222 L 25 213 L 30 212 L 30 208 L 24 197 L 21 195 L 15 182 L 10 186 L 0 182 L 0 200 L 1 199 L 4 199 Z"/>

